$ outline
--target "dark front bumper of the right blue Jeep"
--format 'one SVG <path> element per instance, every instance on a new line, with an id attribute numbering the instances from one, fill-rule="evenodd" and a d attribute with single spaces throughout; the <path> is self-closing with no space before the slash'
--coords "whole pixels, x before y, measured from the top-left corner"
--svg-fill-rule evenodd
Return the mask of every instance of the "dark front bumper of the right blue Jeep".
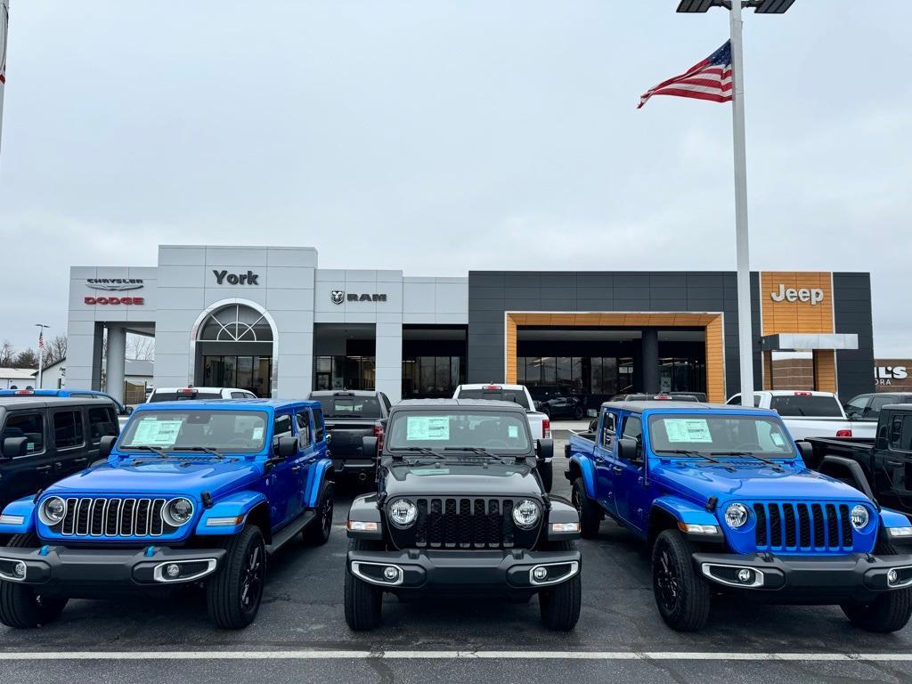
<path id="1" fill-rule="evenodd" d="M 700 575 L 716 585 L 794 597 L 870 598 L 912 586 L 912 554 L 782 556 L 693 554 Z"/>

